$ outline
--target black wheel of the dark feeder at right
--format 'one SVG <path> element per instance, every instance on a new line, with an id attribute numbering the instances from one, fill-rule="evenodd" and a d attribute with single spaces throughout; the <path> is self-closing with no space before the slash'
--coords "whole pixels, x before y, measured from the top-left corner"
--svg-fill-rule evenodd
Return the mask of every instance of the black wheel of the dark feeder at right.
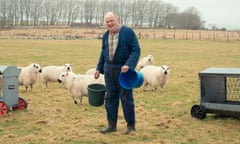
<path id="1" fill-rule="evenodd" d="M 206 109 L 200 105 L 193 105 L 191 109 L 192 117 L 204 119 L 206 117 Z"/>

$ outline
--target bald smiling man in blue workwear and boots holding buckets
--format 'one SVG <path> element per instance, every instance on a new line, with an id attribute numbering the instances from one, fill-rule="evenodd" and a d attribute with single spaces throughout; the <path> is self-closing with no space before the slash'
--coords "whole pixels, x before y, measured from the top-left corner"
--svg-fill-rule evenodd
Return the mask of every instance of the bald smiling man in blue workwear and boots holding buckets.
<path id="1" fill-rule="evenodd" d="M 140 46 L 134 31 L 121 26 L 113 12 L 107 12 L 104 17 L 107 31 L 102 39 L 102 51 L 97 64 L 95 78 L 102 73 L 105 76 L 108 127 L 100 130 L 109 133 L 117 130 L 119 99 L 121 100 L 124 118 L 127 122 L 126 134 L 135 131 L 135 110 L 132 89 L 121 87 L 118 77 L 129 69 L 135 69 L 140 57 Z"/>

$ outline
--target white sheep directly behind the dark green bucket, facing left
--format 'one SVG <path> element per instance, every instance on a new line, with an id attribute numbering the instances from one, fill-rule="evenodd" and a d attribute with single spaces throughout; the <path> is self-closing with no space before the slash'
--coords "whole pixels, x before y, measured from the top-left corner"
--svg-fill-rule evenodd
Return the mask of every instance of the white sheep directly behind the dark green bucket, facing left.
<path id="1" fill-rule="evenodd" d="M 80 104 L 82 104 L 82 97 L 88 96 L 87 87 L 89 84 L 99 83 L 105 85 L 104 80 L 94 79 L 92 75 L 76 75 L 74 72 L 62 72 L 58 77 L 58 82 L 66 84 L 75 104 L 77 104 L 75 98 L 79 98 Z"/>

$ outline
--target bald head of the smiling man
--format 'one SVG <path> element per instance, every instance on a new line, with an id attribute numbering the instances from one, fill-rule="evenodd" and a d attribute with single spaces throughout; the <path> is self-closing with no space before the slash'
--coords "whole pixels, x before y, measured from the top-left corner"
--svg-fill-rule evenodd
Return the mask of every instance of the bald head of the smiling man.
<path id="1" fill-rule="evenodd" d="M 104 16 L 104 22 L 111 33 L 118 32 L 120 28 L 119 20 L 113 12 L 107 12 Z"/>

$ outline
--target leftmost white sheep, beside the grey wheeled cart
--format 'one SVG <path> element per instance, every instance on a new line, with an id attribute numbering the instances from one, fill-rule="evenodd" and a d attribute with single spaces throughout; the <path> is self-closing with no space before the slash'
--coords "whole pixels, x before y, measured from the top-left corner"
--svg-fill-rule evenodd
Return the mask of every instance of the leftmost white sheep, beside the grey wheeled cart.
<path id="1" fill-rule="evenodd" d="M 25 87 L 27 91 L 28 87 L 32 90 L 33 85 L 37 83 L 39 74 L 42 72 L 42 68 L 39 64 L 33 63 L 26 67 L 18 67 L 21 72 L 18 77 L 18 84 Z"/>

